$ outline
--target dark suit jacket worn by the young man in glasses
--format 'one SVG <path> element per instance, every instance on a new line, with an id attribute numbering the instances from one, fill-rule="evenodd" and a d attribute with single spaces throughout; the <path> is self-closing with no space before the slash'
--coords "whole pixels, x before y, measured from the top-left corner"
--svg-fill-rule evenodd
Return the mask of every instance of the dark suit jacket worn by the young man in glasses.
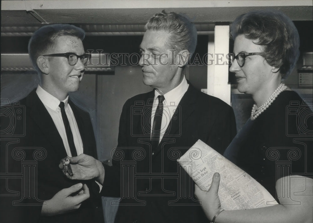
<path id="1" fill-rule="evenodd" d="M 90 116 L 87 112 L 79 109 L 70 100 L 69 104 L 73 110 L 80 135 L 83 142 L 84 153 L 97 158 L 95 136 L 90 122 Z M 15 105 L 17 106 L 17 105 Z M 49 115 L 44 104 L 38 98 L 36 91 L 33 90 L 26 98 L 22 99 L 18 105 L 22 108 L 23 122 L 17 124 L 15 132 L 23 132 L 24 136 L 13 137 L 19 140 L 19 143 L 8 143 L 10 140 L 1 140 L 1 168 L 2 173 L 7 169 L 7 173 L 27 172 L 22 170 L 22 166 L 28 164 L 34 168 L 32 175 L 24 176 L 23 180 L 30 180 L 34 185 L 26 182 L 27 188 L 21 188 L 23 184 L 19 179 L 1 179 L 1 194 L 8 191 L 19 191 L 18 196 L 1 197 L 1 218 L 3 222 L 104 222 L 101 197 L 96 196 L 99 193 L 99 186 L 94 181 L 82 182 L 87 183 L 90 190 L 90 198 L 82 203 L 78 210 L 51 217 L 40 216 L 42 201 L 51 199 L 61 189 L 70 187 L 78 181 L 72 181 L 64 177 L 58 165 L 62 158 L 66 157 L 66 151 L 61 136 L 54 122 Z M 14 135 L 14 134 L 13 134 Z M 6 138 L 6 137 L 3 137 Z M 2 139 L 3 139 L 2 138 Z M 12 139 L 13 140 L 13 139 Z M 18 155 L 12 154 L 15 148 L 22 148 L 25 157 L 22 160 L 16 160 Z M 6 149 L 5 149 L 6 148 Z M 34 151 L 38 149 L 40 152 Z M 23 152 L 22 152 L 23 153 Z M 34 155 L 36 154 L 36 155 Z M 8 157 L 6 165 L 5 157 Z M 28 163 L 27 163 L 28 162 Z M 37 167 L 34 167 L 37 165 Z M 7 166 L 7 167 L 6 167 Z M 33 179 L 37 172 L 37 180 Z M 8 176 L 8 175 L 7 175 Z M 8 183 L 7 187 L 3 187 Z M 29 188 L 34 188 L 34 192 Z M 30 192 L 29 192 L 30 191 Z M 27 193 L 25 193 L 27 192 Z M 37 195 L 36 195 L 37 193 Z M 21 196 L 30 197 L 18 202 L 18 204 L 34 204 L 33 206 L 16 206 L 12 205 L 12 201 L 21 199 Z M 2 222 L 2 221 L 1 221 Z"/>

